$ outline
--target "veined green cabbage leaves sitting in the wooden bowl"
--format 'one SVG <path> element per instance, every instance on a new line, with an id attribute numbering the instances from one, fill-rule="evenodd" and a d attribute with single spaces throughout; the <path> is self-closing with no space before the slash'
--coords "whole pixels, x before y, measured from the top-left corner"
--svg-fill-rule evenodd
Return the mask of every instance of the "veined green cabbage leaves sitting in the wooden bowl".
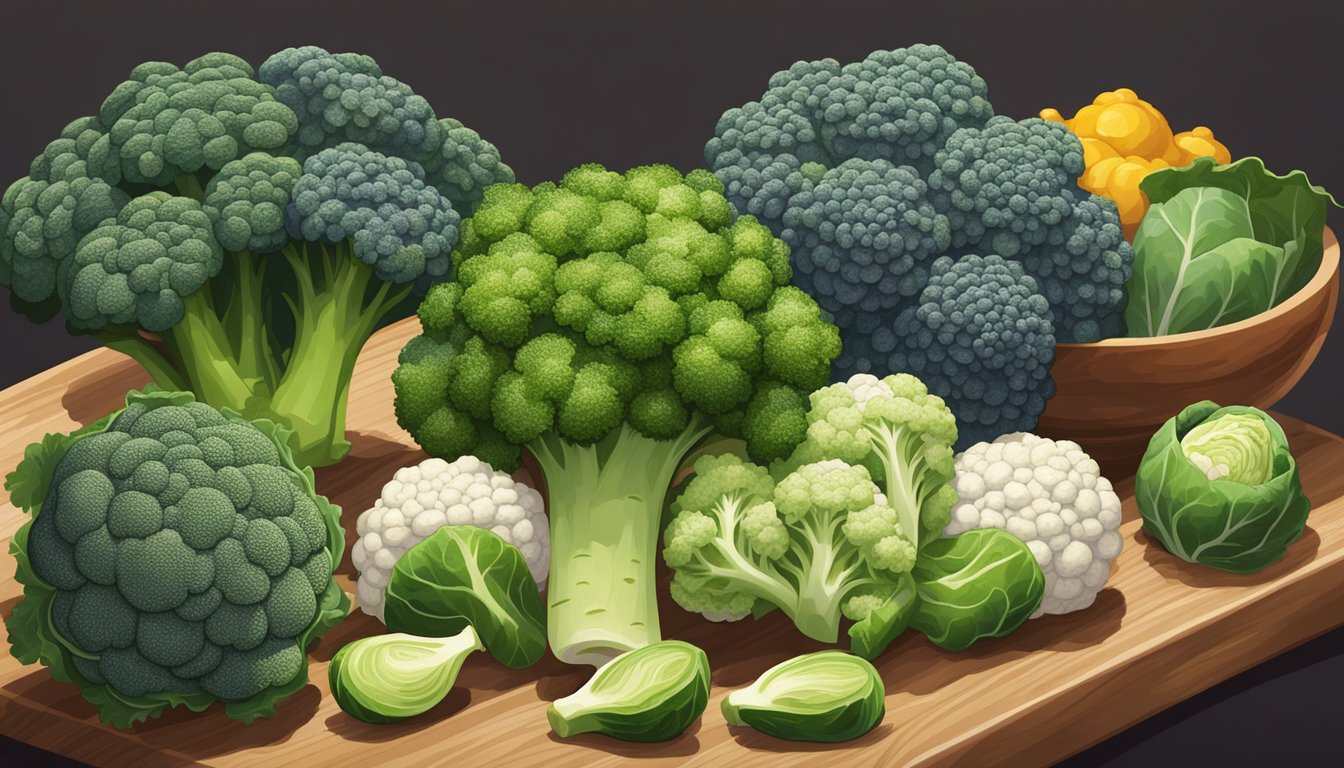
<path id="1" fill-rule="evenodd" d="M 1320 266 L 1325 207 L 1335 200 L 1301 171 L 1278 176 L 1258 157 L 1230 165 L 1202 157 L 1140 187 L 1152 207 L 1134 235 L 1130 336 L 1245 320 L 1296 293 Z"/>

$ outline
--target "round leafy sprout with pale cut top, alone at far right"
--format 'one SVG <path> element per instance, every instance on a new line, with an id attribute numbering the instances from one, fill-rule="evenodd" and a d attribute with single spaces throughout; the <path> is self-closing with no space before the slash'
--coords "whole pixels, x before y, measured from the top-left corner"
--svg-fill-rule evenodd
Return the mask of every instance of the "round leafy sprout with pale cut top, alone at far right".
<path id="1" fill-rule="evenodd" d="M 1144 533 L 1187 561 L 1255 573 L 1302 535 L 1302 495 L 1288 436 L 1263 410 L 1196 402 L 1148 443 L 1134 477 Z"/>

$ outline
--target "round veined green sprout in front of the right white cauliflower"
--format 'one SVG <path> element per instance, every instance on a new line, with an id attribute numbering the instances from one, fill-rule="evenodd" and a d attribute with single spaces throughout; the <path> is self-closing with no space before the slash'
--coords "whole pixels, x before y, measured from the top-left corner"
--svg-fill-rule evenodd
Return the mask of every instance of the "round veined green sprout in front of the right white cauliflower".
<path id="1" fill-rule="evenodd" d="M 1035 555 L 999 529 L 929 542 L 913 574 L 919 604 L 910 625 L 948 651 L 1021 627 L 1046 594 Z"/>

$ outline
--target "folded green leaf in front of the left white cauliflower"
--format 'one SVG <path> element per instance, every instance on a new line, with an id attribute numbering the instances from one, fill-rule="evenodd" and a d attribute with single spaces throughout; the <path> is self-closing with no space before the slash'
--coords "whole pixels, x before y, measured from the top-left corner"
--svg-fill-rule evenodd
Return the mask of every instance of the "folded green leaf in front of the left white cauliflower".
<path id="1" fill-rule="evenodd" d="M 546 652 L 546 607 L 523 553 L 499 534 L 448 526 L 413 546 L 387 584 L 387 628 L 446 638 L 474 627 L 501 664 L 535 664 Z"/>

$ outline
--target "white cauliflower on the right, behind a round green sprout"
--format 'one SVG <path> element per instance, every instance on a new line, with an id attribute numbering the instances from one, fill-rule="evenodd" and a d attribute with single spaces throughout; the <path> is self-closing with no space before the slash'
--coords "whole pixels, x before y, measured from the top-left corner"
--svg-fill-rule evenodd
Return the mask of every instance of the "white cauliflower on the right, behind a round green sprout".
<path id="1" fill-rule="evenodd" d="M 957 455 L 960 500 L 946 537 L 1003 529 L 1027 543 L 1046 574 L 1032 619 L 1093 604 L 1120 554 L 1120 496 L 1077 443 L 1027 432 Z"/>

